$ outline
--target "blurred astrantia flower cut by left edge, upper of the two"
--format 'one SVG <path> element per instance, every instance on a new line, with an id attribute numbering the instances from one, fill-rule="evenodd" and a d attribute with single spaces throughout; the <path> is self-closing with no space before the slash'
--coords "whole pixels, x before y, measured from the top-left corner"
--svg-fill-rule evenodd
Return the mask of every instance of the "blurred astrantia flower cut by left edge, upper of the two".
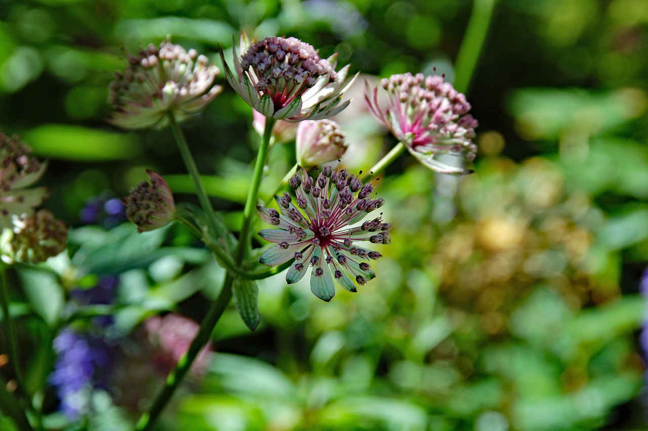
<path id="1" fill-rule="evenodd" d="M 0 133 L 0 229 L 13 228 L 14 216 L 29 216 L 47 196 L 47 189 L 26 189 L 38 181 L 45 165 L 30 157 L 29 146 L 16 135 Z"/>

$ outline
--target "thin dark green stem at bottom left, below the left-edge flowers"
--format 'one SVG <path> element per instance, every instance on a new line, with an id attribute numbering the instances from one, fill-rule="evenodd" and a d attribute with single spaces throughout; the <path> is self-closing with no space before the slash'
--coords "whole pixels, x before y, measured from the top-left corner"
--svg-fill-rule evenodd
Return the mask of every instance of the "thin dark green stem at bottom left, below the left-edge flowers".
<path id="1" fill-rule="evenodd" d="M 29 393 L 27 393 L 27 388 L 25 388 L 25 380 L 23 380 L 23 373 L 20 369 L 20 358 L 18 356 L 16 330 L 14 329 L 14 320 L 12 319 L 9 312 L 9 292 L 6 285 L 5 265 L 2 263 L 0 263 L 0 273 L 0 307 L 2 307 L 2 313 L 4 317 L 3 329 L 5 331 L 5 340 L 9 353 L 9 364 L 11 365 L 11 369 L 14 372 L 14 377 L 16 379 L 17 393 L 19 397 L 21 397 L 23 404 L 25 404 L 25 407 L 27 408 L 29 413 L 33 415 L 34 419 L 36 420 L 36 428 L 38 430 L 42 430 L 43 425 L 41 423 L 41 415 L 36 412 L 34 404 L 32 404 L 32 397 L 30 397 Z M 29 426 L 29 429 L 32 430 L 34 428 Z"/>

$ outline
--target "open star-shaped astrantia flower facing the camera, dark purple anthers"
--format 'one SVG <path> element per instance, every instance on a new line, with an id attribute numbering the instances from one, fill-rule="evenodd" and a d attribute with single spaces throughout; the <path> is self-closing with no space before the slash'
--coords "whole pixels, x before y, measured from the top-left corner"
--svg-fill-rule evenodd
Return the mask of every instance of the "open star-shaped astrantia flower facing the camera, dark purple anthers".
<path id="1" fill-rule="evenodd" d="M 260 237 L 277 244 L 259 261 L 279 265 L 294 259 L 286 274 L 288 284 L 299 281 L 312 266 L 310 290 L 324 301 L 330 301 L 335 294 L 333 279 L 346 290 L 356 292 L 357 285 L 376 276 L 367 262 L 381 255 L 354 242 L 389 244 L 391 224 L 378 216 L 361 226 L 351 226 L 382 206 L 384 200 L 371 195 L 373 184 L 363 185 L 346 169 L 334 170 L 330 166 L 324 167 L 315 181 L 300 167 L 288 184 L 295 191 L 296 206 L 287 192 L 275 196 L 281 214 L 257 205 L 262 220 L 277 226 L 259 232 Z"/>

